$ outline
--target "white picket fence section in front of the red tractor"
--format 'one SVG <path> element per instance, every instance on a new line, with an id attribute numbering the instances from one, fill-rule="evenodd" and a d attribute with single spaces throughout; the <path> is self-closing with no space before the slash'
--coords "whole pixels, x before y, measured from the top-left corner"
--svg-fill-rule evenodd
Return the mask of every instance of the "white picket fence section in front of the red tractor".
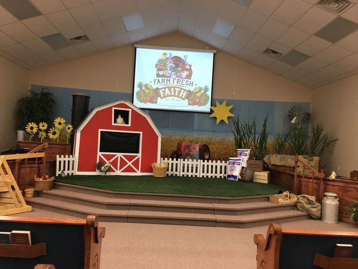
<path id="1" fill-rule="evenodd" d="M 162 161 L 168 161 L 167 175 L 226 177 L 226 169 L 228 167 L 228 162 L 225 161 L 161 158 Z"/>

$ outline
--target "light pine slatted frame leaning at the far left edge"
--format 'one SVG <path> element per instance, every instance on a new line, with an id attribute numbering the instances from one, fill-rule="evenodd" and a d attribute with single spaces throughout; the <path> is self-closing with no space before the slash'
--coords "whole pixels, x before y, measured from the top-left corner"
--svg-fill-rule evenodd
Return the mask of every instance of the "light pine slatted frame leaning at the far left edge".
<path id="1" fill-rule="evenodd" d="M 26 205 L 5 156 L 0 156 L 0 215 L 31 211 Z"/>

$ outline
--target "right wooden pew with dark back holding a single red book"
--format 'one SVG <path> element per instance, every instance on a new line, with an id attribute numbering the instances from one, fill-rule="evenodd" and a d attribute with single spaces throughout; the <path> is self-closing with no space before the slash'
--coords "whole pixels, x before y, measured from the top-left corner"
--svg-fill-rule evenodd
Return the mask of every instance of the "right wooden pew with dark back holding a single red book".
<path id="1" fill-rule="evenodd" d="M 270 224 L 266 239 L 255 234 L 257 269 L 356 269 L 358 232 L 282 229 Z M 332 258 L 336 244 L 354 246 L 352 258 Z"/>

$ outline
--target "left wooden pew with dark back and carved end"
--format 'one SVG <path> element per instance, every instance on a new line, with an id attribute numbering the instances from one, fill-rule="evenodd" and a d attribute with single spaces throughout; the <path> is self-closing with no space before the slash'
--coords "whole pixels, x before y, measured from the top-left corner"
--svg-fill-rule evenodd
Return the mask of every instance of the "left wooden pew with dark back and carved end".
<path id="1" fill-rule="evenodd" d="M 31 231 L 32 245 L 0 244 L 0 268 L 99 269 L 106 229 L 97 217 L 61 219 L 0 216 L 0 231 Z M 36 268 L 53 268 L 37 266 Z"/>

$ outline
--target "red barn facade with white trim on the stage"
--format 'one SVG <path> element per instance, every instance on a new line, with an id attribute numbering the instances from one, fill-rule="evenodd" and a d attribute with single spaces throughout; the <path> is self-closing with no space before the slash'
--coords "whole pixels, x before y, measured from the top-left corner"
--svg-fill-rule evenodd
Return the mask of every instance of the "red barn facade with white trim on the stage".
<path id="1" fill-rule="evenodd" d="M 161 134 L 152 119 L 127 100 L 94 108 L 78 126 L 73 154 L 77 174 L 100 174 L 96 163 L 110 162 L 107 174 L 152 174 L 160 161 Z"/>

